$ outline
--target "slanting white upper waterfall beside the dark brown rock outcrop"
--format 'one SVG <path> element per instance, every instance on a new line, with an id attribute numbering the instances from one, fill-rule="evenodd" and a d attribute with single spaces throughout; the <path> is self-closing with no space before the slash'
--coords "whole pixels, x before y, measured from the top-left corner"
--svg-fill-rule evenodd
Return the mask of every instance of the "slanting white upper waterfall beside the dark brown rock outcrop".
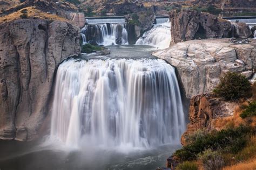
<path id="1" fill-rule="evenodd" d="M 164 24 L 155 24 L 150 31 L 147 31 L 140 37 L 137 45 L 153 45 L 164 49 L 170 46 L 171 42 L 171 24 L 170 21 Z"/>

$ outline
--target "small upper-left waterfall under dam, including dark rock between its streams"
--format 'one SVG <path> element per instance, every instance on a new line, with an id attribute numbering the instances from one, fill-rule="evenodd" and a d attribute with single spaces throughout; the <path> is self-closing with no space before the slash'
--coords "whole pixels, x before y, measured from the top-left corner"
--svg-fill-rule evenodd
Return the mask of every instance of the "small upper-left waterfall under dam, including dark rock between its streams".
<path id="1" fill-rule="evenodd" d="M 87 42 L 95 40 L 98 45 L 124 45 L 129 44 L 125 26 L 125 24 L 85 25 L 82 33 L 85 34 Z"/>

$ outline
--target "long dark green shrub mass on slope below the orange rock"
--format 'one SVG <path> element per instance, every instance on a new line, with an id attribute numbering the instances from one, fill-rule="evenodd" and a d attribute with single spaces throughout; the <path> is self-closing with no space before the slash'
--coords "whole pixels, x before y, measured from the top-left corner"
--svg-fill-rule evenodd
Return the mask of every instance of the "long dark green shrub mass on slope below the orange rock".
<path id="1" fill-rule="evenodd" d="M 235 129 L 225 129 L 217 132 L 207 133 L 204 137 L 195 138 L 190 144 L 183 146 L 173 153 L 182 161 L 196 160 L 197 155 L 207 149 L 225 150 L 226 152 L 238 152 L 246 144 L 247 136 L 250 136 L 250 126 L 239 126 Z"/>

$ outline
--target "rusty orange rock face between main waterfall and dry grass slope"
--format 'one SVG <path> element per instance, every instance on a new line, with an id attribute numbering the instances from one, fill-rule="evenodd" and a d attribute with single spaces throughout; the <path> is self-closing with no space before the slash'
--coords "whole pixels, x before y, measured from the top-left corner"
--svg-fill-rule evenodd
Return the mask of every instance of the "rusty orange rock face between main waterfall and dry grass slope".
<path id="1" fill-rule="evenodd" d="M 212 94 L 193 96 L 190 100 L 190 123 L 187 130 L 181 137 L 181 144 L 186 144 L 186 137 L 199 130 L 206 129 L 211 131 L 214 128 L 213 120 L 220 117 L 233 115 L 234 103 L 221 101 L 220 98 Z"/>

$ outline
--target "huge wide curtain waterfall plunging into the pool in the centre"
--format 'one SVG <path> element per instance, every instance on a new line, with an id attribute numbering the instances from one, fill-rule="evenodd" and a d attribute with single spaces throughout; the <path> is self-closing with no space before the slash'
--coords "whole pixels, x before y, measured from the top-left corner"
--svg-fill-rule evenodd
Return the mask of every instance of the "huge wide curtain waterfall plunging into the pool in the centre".
<path id="1" fill-rule="evenodd" d="M 70 59 L 57 70 L 51 137 L 66 145 L 179 143 L 185 118 L 174 68 L 160 59 Z"/>

